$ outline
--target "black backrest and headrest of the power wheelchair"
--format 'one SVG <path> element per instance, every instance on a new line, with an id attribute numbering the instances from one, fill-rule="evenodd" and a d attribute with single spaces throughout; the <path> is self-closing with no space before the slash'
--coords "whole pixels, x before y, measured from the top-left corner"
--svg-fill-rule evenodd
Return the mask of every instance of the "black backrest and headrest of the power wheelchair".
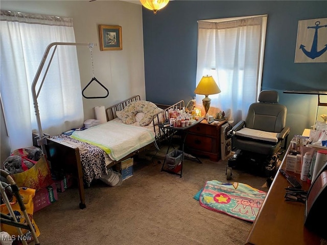
<path id="1" fill-rule="evenodd" d="M 263 90 L 259 102 L 250 105 L 245 127 L 266 132 L 281 132 L 286 126 L 287 108 L 278 104 L 278 92 Z"/>

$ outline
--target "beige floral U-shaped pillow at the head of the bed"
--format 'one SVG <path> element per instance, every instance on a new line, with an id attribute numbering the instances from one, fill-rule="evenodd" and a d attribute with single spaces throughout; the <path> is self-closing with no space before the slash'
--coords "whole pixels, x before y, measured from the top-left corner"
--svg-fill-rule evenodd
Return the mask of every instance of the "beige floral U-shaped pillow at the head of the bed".
<path id="1" fill-rule="evenodd" d="M 147 126 L 152 121 L 153 115 L 160 111 L 161 109 L 152 102 L 133 101 L 128 104 L 121 113 L 119 113 L 119 118 L 122 119 L 124 124 L 133 124 L 136 121 L 135 115 L 139 112 L 143 112 L 144 116 L 139 121 L 139 125 Z"/>

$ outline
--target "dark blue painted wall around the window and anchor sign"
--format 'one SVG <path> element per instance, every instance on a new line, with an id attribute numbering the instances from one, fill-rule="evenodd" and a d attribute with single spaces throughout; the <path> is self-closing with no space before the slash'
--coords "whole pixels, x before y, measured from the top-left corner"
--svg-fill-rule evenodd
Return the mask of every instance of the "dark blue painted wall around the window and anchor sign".
<path id="1" fill-rule="evenodd" d="M 327 17 L 327 1 L 172 1 L 156 15 L 143 8 L 146 99 L 187 103 L 194 96 L 197 20 L 268 14 L 262 89 L 279 92 L 291 134 L 315 121 L 316 95 L 327 90 L 327 63 L 294 63 L 298 20 Z"/>

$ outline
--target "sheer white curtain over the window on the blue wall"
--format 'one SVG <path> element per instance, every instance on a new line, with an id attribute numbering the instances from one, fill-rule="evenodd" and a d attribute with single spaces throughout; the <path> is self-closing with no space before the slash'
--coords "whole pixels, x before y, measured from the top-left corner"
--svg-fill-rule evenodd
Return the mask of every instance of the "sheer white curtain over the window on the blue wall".
<path id="1" fill-rule="evenodd" d="M 213 76 L 221 93 L 209 95 L 209 114 L 224 111 L 232 125 L 258 99 L 266 23 L 267 15 L 198 21 L 196 85 L 202 76 Z M 203 97 L 196 95 L 196 104 Z"/>

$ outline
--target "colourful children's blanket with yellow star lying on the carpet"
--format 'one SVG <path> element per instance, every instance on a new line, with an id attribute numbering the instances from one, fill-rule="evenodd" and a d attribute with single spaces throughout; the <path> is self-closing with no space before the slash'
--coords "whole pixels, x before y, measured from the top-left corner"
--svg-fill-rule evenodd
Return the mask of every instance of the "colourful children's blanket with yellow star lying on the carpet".
<path id="1" fill-rule="evenodd" d="M 194 199 L 204 208 L 253 222 L 266 194 L 247 184 L 212 180 L 205 183 Z"/>

